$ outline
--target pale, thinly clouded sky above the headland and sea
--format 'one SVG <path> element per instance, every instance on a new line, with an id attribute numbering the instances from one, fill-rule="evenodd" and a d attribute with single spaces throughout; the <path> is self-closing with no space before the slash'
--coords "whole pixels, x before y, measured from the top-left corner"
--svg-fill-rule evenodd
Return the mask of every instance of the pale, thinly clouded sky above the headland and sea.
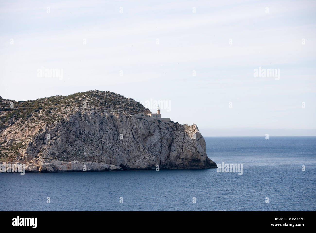
<path id="1" fill-rule="evenodd" d="M 110 90 L 164 103 L 203 136 L 316 136 L 315 13 L 316 1 L 0 0 L 0 96 Z"/>

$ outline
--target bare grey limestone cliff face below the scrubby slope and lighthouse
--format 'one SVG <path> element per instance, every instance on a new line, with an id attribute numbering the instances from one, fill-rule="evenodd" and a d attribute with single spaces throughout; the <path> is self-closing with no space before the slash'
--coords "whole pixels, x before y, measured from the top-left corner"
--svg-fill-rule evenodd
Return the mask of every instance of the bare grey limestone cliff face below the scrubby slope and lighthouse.
<path id="1" fill-rule="evenodd" d="M 27 164 L 28 172 L 83 171 L 83 166 L 87 171 L 156 169 L 156 165 L 160 169 L 216 168 L 195 124 L 82 108 L 32 130 L 7 133 L 0 139 L 6 144 L 24 139 L 25 148 L 14 162 Z"/>

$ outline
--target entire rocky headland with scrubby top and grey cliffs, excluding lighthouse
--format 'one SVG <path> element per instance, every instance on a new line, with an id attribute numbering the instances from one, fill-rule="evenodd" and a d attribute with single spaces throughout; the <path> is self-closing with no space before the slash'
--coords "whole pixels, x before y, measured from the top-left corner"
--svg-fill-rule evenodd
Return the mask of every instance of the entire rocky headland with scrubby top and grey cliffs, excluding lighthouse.
<path id="1" fill-rule="evenodd" d="M 147 121 L 150 112 L 113 92 L 31 101 L 0 97 L 0 161 L 29 172 L 216 168 L 195 124 Z"/>

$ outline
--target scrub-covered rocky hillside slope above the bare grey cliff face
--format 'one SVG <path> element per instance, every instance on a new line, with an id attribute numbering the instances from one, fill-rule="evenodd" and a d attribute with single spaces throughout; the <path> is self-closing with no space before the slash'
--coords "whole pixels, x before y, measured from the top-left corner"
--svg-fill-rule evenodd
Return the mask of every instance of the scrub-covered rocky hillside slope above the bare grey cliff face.
<path id="1" fill-rule="evenodd" d="M 90 110 L 131 115 L 144 112 L 146 108 L 131 98 L 98 90 L 27 101 L 0 97 L 0 161 L 19 159 L 28 139 L 40 133 L 44 126 Z"/>

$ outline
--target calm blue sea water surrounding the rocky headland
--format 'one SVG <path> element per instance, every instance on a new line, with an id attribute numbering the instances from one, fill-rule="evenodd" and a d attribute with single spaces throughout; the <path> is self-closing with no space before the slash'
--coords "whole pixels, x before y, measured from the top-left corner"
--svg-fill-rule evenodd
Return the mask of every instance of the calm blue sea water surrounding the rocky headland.
<path id="1" fill-rule="evenodd" d="M 217 169 L 0 173 L 0 210 L 316 210 L 316 137 L 205 141 L 210 159 L 243 164 L 243 174 Z"/>

